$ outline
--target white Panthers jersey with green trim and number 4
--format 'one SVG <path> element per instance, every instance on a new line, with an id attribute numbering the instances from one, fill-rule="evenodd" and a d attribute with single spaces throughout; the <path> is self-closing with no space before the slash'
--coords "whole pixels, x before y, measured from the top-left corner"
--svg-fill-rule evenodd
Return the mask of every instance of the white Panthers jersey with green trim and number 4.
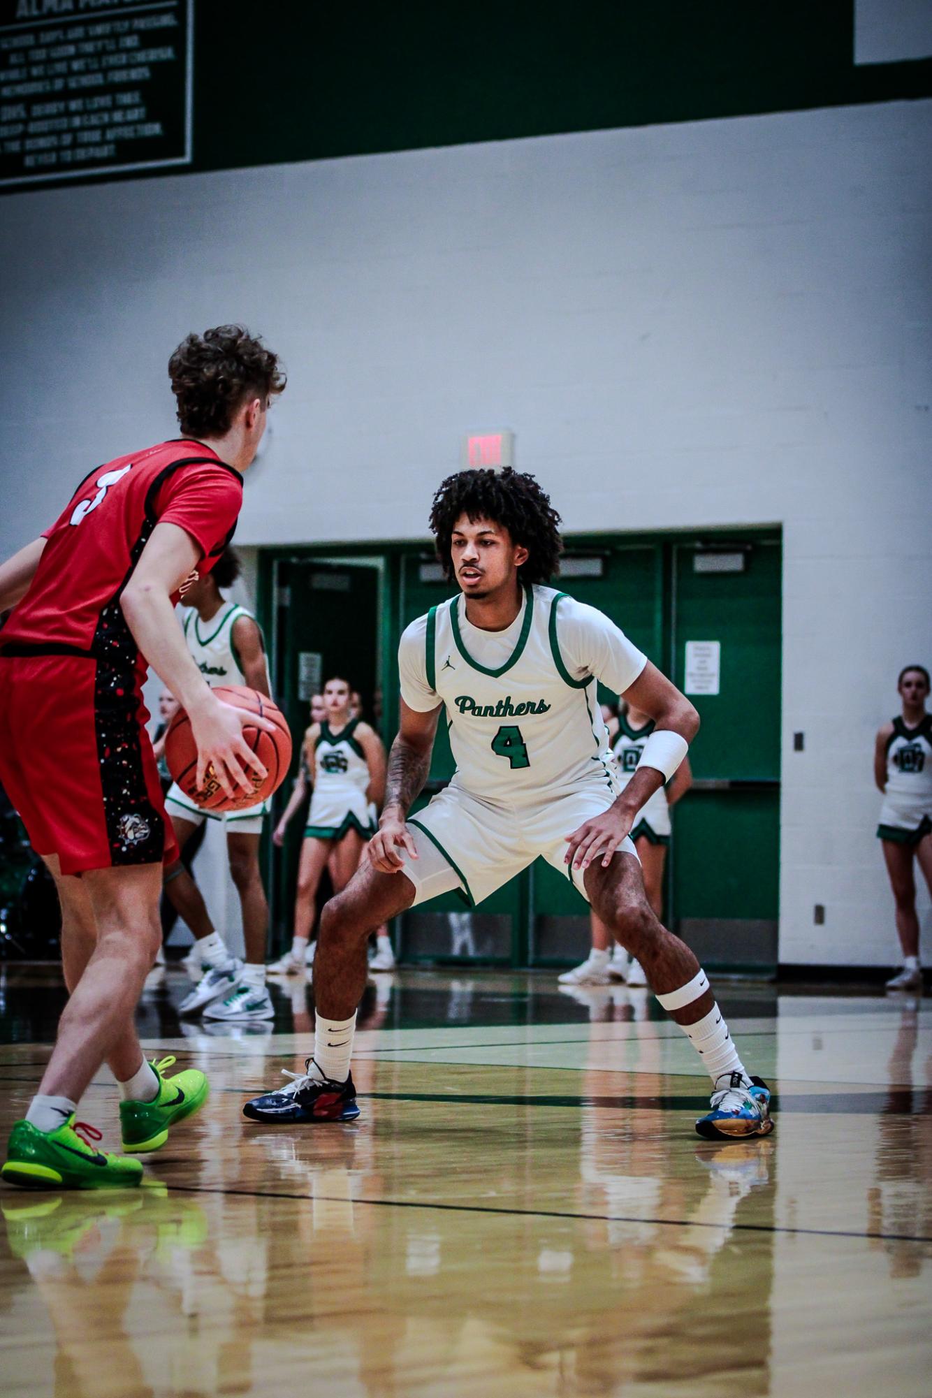
<path id="1" fill-rule="evenodd" d="M 398 647 L 405 703 L 446 706 L 451 788 L 513 808 L 619 793 L 597 681 L 623 693 L 646 664 L 595 607 L 539 586 L 504 630 L 474 626 L 458 596 L 412 622 Z"/>

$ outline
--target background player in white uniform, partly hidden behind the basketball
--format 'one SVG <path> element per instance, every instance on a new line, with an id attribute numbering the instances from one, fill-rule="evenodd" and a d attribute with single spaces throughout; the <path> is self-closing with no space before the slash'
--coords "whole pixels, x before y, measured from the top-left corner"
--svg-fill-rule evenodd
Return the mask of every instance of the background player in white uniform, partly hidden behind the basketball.
<path id="1" fill-rule="evenodd" d="M 263 633 L 254 617 L 228 601 L 221 587 L 239 577 L 239 559 L 232 548 L 217 561 L 214 572 L 186 593 L 191 610 L 184 618 L 187 649 L 211 689 L 249 685 L 271 698 Z M 165 797 L 179 849 L 204 821 L 222 822 L 226 830 L 229 872 L 243 913 L 245 963 L 235 958 L 215 930 L 197 884 L 180 863 L 165 871 L 165 893 L 194 932 L 191 955 L 198 958 L 201 977 L 179 1005 L 180 1015 L 203 1011 L 208 1019 L 271 1019 L 274 1008 L 265 988 L 265 935 L 268 903 L 259 868 L 259 843 L 268 802 L 245 811 L 211 814 L 203 811 L 173 783 Z"/>

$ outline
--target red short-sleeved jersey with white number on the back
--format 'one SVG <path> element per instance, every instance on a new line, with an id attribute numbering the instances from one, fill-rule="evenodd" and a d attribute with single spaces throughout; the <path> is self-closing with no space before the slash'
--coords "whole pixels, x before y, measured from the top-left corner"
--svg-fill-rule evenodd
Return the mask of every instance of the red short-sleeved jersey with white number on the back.
<path id="1" fill-rule="evenodd" d="M 242 477 L 203 442 L 162 442 L 96 467 L 46 530 L 0 651 L 94 656 L 117 670 L 144 670 L 120 596 L 152 530 L 159 523 L 186 530 L 201 552 L 203 575 L 233 537 L 242 502 Z"/>

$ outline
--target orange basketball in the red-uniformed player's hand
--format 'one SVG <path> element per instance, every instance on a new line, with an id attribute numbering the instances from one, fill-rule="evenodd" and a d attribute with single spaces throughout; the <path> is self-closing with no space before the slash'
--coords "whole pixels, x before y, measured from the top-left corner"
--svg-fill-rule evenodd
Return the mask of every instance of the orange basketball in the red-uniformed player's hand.
<path id="1" fill-rule="evenodd" d="M 224 703 L 233 705 L 236 709 L 249 709 L 250 713 L 259 713 L 275 724 L 274 733 L 254 728 L 249 723 L 243 726 L 243 738 L 268 776 L 261 779 L 243 763 L 243 770 L 253 783 L 253 790 L 246 793 L 239 783 L 233 783 L 236 795 L 231 798 L 217 780 L 214 768 L 208 766 L 204 777 L 205 784 L 198 790 L 196 786 L 197 747 L 191 734 L 191 721 L 183 709 L 177 710 L 165 735 L 165 761 L 184 795 L 196 805 L 203 807 L 204 811 L 245 811 L 250 805 L 267 801 L 285 780 L 291 766 L 291 733 L 278 705 L 267 699 L 265 695 L 260 695 L 257 689 L 246 689 L 243 685 L 218 685 L 214 693 Z"/>

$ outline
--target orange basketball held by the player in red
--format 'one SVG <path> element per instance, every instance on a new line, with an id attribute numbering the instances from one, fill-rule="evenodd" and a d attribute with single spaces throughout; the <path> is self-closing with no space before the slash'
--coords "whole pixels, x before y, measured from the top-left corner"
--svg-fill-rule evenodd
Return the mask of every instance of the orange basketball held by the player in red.
<path id="1" fill-rule="evenodd" d="M 204 811 L 243 811 L 268 800 L 285 780 L 291 766 L 291 733 L 278 705 L 256 689 L 221 685 L 211 693 L 221 703 L 246 710 L 257 720 L 243 720 L 242 713 L 238 716 L 242 730 L 225 759 L 226 770 L 219 759 L 205 765 L 198 762 L 191 720 L 183 709 L 175 714 L 165 735 L 165 761 L 184 795 Z M 204 768 L 200 781 L 198 765 Z"/>

